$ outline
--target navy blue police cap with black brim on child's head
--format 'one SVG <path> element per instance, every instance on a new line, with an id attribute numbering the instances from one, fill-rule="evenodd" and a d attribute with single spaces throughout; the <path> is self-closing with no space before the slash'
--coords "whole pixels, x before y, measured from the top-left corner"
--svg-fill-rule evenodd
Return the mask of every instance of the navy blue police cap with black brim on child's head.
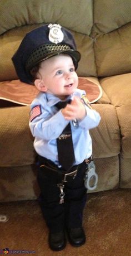
<path id="1" fill-rule="evenodd" d="M 12 57 L 18 78 L 32 84 L 31 70 L 39 62 L 58 54 L 68 54 L 72 57 L 75 70 L 80 60 L 80 53 L 72 33 L 58 24 L 47 24 L 27 33 L 18 50 Z"/>

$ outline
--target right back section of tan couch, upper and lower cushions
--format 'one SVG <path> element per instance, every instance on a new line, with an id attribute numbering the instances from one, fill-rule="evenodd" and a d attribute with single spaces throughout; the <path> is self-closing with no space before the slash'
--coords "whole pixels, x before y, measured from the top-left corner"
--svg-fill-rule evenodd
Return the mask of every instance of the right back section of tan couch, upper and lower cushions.
<path id="1" fill-rule="evenodd" d="M 98 76 L 131 72 L 131 1 L 95 0 L 93 37 Z"/>

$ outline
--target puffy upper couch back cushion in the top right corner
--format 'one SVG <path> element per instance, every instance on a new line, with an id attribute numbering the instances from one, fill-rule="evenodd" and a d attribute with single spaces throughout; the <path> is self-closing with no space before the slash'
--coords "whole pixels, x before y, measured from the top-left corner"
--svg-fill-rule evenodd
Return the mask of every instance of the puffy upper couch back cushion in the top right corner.
<path id="1" fill-rule="evenodd" d="M 131 21 L 130 0 L 95 0 L 93 7 L 95 35 L 111 32 Z"/>

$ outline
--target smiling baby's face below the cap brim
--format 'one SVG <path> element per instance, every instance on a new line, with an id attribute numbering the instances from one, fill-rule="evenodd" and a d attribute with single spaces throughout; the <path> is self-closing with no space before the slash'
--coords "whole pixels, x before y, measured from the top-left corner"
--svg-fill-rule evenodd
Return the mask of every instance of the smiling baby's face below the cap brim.
<path id="1" fill-rule="evenodd" d="M 38 73 L 41 78 L 39 76 L 34 83 L 38 90 L 54 94 L 60 99 L 74 93 L 78 86 L 78 76 L 69 55 L 60 54 L 43 61 Z"/>

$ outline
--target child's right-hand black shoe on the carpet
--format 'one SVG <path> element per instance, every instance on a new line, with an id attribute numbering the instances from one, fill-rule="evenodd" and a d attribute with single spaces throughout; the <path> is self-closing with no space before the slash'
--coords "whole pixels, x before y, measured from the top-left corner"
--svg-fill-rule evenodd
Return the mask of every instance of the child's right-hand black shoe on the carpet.
<path id="1" fill-rule="evenodd" d="M 68 232 L 69 243 L 74 247 L 79 247 L 85 243 L 85 234 L 83 228 L 72 228 Z"/>

